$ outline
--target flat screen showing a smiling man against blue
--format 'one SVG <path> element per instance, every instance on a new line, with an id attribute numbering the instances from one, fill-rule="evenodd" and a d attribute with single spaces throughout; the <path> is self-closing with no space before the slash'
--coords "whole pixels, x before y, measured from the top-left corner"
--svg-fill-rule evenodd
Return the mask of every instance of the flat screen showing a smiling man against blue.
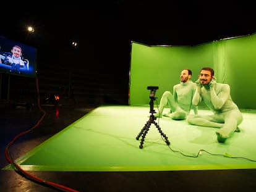
<path id="1" fill-rule="evenodd" d="M 0 73 L 36 77 L 37 49 L 0 36 Z"/>

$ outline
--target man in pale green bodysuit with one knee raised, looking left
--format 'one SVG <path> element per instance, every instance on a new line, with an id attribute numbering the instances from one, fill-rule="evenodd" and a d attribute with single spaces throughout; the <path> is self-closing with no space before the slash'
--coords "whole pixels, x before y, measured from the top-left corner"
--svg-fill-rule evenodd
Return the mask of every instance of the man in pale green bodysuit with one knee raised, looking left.
<path id="1" fill-rule="evenodd" d="M 173 86 L 173 94 L 171 91 L 165 91 L 160 100 L 159 112 L 155 117 L 171 117 L 174 120 L 186 119 L 190 113 L 190 109 L 194 109 L 194 114 L 197 114 L 197 106 L 192 106 L 192 98 L 195 92 L 195 83 L 190 78 L 192 71 L 184 69 L 181 72 L 181 83 Z M 162 114 L 166 105 L 169 105 L 170 111 L 168 114 Z"/>

